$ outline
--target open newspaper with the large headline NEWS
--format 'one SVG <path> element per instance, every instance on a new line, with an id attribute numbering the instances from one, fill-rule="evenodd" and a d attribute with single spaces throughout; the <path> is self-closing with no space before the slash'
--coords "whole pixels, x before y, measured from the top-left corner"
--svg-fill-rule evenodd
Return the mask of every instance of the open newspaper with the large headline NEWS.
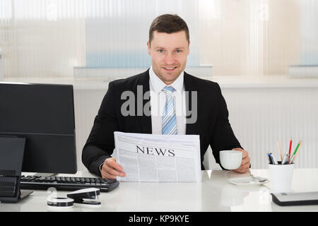
<path id="1" fill-rule="evenodd" d="M 116 162 L 124 182 L 199 182 L 199 135 L 114 132 Z"/>

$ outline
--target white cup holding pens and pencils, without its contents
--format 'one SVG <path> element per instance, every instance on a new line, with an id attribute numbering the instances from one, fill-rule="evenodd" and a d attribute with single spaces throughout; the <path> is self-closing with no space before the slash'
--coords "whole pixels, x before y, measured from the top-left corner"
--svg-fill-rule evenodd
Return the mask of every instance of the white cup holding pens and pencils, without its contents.
<path id="1" fill-rule="evenodd" d="M 291 192 L 295 164 L 269 164 L 273 192 Z"/>

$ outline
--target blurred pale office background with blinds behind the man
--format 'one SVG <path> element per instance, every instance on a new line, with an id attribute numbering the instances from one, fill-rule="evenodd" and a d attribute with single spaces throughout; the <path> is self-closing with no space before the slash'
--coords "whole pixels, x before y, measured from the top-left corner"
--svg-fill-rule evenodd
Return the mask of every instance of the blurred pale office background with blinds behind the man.
<path id="1" fill-rule="evenodd" d="M 302 141 L 296 167 L 318 167 L 318 1 L 0 0 L 0 81 L 74 85 L 78 169 L 109 81 L 151 66 L 152 20 L 190 30 L 186 71 L 220 84 L 253 168 Z M 1 97 L 2 98 L 2 97 Z M 1 117 L 1 116 L 0 116 Z M 211 150 L 205 165 L 216 167 Z"/>

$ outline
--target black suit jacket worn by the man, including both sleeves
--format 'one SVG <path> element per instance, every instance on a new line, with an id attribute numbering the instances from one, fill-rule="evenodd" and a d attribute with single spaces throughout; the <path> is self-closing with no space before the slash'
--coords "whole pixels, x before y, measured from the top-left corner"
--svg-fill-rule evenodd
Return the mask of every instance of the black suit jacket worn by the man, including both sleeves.
<path id="1" fill-rule="evenodd" d="M 137 101 L 135 116 L 124 117 L 121 114 L 122 104 L 127 101 L 121 100 L 124 91 L 132 91 L 137 97 L 137 85 L 142 85 L 142 94 L 150 90 L 148 71 L 149 69 L 139 75 L 110 82 L 98 115 L 95 117 L 93 129 L 83 148 L 82 161 L 90 172 L 100 175 L 99 166 L 112 155 L 114 131 L 152 133 L 151 116 L 137 114 L 140 113 L 137 112 Z M 218 83 L 196 78 L 184 72 L 184 89 L 190 93 L 189 106 L 192 106 L 191 92 L 197 92 L 197 120 L 194 124 L 186 125 L 186 134 L 200 136 L 201 169 L 204 169 L 202 162 L 208 145 L 211 145 L 213 156 L 220 164 L 220 150 L 242 148 L 228 121 L 228 109 L 220 86 Z M 149 101 L 150 97 L 148 100 L 143 100 L 143 106 Z"/>

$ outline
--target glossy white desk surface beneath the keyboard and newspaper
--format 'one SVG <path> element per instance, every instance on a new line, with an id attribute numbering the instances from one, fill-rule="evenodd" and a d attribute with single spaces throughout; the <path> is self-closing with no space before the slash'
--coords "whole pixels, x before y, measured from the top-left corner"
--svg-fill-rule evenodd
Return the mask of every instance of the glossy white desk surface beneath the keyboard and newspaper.
<path id="1" fill-rule="evenodd" d="M 228 182 L 229 178 L 248 174 L 270 179 L 268 169 L 251 169 L 247 174 L 202 171 L 202 182 L 197 183 L 121 182 L 110 193 L 101 193 L 102 206 L 88 208 L 74 204 L 69 211 L 318 211 L 318 206 L 277 206 L 271 201 L 271 182 L 258 186 Z M 89 172 L 78 172 L 76 176 L 94 177 Z M 292 189 L 294 192 L 318 191 L 318 169 L 295 169 Z M 67 193 L 57 191 L 58 196 L 66 197 Z M 47 208 L 47 196 L 47 191 L 35 190 L 19 203 L 0 203 L 0 212 L 51 211 Z"/>

